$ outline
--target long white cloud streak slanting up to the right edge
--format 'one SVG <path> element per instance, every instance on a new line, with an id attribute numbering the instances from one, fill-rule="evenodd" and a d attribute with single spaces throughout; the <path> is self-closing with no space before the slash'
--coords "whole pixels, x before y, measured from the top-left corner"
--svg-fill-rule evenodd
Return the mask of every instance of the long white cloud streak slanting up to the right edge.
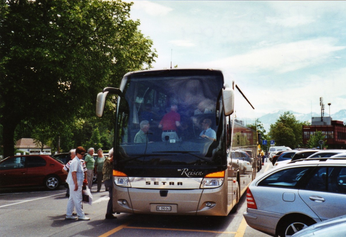
<path id="1" fill-rule="evenodd" d="M 235 71 L 270 70 L 279 73 L 298 70 L 327 60 L 333 52 L 346 49 L 336 46 L 333 38 L 317 38 L 277 44 L 236 55 L 208 65 L 231 67 Z"/>

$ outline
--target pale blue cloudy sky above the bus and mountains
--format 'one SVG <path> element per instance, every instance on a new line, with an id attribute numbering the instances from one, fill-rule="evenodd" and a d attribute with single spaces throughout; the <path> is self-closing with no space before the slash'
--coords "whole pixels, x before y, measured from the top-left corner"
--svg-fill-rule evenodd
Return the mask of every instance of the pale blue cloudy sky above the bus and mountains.
<path id="1" fill-rule="evenodd" d="M 346 1 L 131 2 L 154 69 L 221 69 L 258 116 L 346 109 Z"/>

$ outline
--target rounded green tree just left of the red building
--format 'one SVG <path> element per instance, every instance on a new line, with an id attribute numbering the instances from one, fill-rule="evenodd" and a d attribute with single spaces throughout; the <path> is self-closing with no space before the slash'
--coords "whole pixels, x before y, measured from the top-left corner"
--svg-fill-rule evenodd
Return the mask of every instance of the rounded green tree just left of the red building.
<path id="1" fill-rule="evenodd" d="M 303 144 L 303 125 L 308 125 L 307 121 L 300 122 L 290 112 L 284 112 L 270 125 L 269 136 L 275 140 L 277 146 L 288 146 L 291 148 L 300 147 Z"/>

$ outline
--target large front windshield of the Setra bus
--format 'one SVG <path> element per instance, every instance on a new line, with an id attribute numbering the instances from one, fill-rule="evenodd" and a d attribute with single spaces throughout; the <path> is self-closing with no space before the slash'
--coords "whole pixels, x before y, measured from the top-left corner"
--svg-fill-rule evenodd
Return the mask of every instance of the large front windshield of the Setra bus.
<path id="1" fill-rule="evenodd" d="M 125 75 L 117 108 L 117 165 L 225 165 L 223 85 L 222 73 L 212 70 Z"/>

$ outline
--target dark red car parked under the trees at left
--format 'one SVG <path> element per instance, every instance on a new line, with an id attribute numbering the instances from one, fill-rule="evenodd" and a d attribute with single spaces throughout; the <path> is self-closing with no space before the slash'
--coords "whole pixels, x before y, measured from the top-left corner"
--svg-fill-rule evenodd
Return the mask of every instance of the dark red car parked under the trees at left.
<path id="1" fill-rule="evenodd" d="M 44 186 L 57 189 L 66 181 L 64 164 L 49 155 L 9 156 L 0 162 L 0 188 Z"/>

